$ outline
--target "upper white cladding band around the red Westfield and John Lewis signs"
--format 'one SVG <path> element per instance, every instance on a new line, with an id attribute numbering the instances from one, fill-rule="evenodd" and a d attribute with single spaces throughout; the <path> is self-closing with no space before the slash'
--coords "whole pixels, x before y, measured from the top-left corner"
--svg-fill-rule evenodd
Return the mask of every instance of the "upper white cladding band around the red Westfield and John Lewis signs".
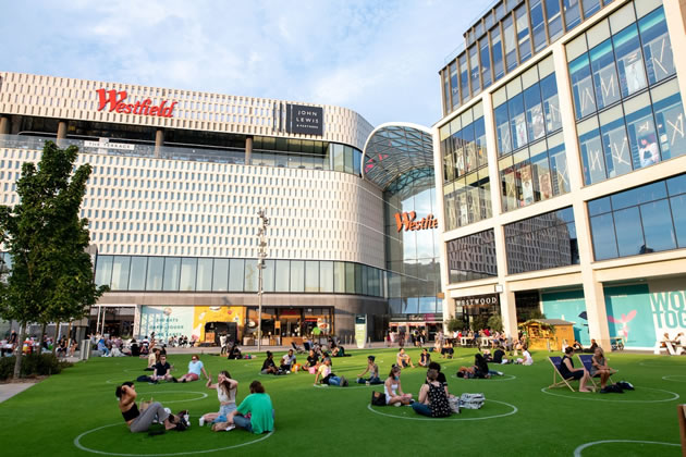
<path id="1" fill-rule="evenodd" d="M 173 118 L 110 112 L 109 104 L 98 111 L 96 90 L 125 90 L 126 102 L 147 98 L 154 106 L 163 100 L 175 101 Z M 279 129 L 279 118 L 285 123 L 285 103 L 323 108 L 323 135 L 302 135 Z M 321 139 L 354 146 L 362 150 L 372 131 L 362 115 L 346 108 L 303 103 L 256 97 L 166 89 L 131 84 L 39 76 L 0 72 L 0 113 L 82 120 L 117 124 L 145 125 L 160 128 L 184 128 L 245 135 Z"/>

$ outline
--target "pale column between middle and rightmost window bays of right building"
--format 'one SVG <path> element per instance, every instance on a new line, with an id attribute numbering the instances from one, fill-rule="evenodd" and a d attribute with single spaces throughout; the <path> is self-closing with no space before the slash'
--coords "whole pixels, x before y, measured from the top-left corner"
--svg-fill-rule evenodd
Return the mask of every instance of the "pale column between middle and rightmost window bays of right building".
<path id="1" fill-rule="evenodd" d="M 566 67 L 567 58 L 562 44 L 558 44 L 558 46 L 554 47 L 553 59 L 555 69 Z M 581 188 L 584 187 L 584 175 L 581 172 L 584 168 L 576 133 L 569 74 L 566 71 L 555 72 L 555 77 L 560 96 L 560 115 L 562 116 L 562 125 L 564 125 L 563 135 L 567 157 L 569 186 L 572 187 L 572 193 L 580 195 Z M 572 208 L 578 240 L 584 301 L 586 302 L 586 313 L 588 316 L 588 332 L 590 333 L 590 337 L 595 338 L 599 346 L 605 350 L 611 350 L 605 296 L 602 283 L 596 280 L 593 272 L 593 244 L 590 221 L 586 211 L 586 202 L 580 198 L 575 198 Z"/>

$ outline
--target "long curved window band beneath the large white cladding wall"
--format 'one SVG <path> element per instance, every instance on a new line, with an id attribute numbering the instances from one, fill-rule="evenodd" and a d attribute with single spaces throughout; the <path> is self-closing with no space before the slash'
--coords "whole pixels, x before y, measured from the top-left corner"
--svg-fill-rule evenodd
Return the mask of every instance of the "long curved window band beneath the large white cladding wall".
<path id="1" fill-rule="evenodd" d="M 351 273 L 336 274 L 339 271 Z M 438 263 L 436 271 L 438 276 Z M 256 293 L 258 274 L 256 259 L 98 256 L 95 281 L 112 292 Z M 265 293 L 384 297 L 385 274 L 378 268 L 351 262 L 267 260 L 262 286 Z"/>

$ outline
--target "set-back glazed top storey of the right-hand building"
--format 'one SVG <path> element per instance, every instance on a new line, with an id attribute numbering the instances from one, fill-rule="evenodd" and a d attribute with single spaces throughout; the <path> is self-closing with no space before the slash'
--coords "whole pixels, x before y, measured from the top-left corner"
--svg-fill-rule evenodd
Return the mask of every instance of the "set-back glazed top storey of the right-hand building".
<path id="1" fill-rule="evenodd" d="M 502 78 L 505 73 L 515 71 L 563 33 L 573 29 L 611 2 L 612 0 L 503 0 L 493 4 L 465 33 L 466 50 L 441 70 L 443 114 L 456 110 Z"/>

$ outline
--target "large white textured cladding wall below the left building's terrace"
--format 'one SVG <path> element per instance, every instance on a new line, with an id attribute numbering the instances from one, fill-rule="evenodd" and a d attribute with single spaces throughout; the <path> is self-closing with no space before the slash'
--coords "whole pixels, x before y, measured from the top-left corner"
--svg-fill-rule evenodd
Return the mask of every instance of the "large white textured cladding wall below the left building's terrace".
<path id="1" fill-rule="evenodd" d="M 22 163 L 40 151 L 0 149 L 0 205 L 16 205 Z M 81 155 L 82 206 L 103 255 L 257 257 L 257 210 L 271 220 L 271 259 L 384 268 L 383 201 L 373 185 L 331 171 Z"/>

